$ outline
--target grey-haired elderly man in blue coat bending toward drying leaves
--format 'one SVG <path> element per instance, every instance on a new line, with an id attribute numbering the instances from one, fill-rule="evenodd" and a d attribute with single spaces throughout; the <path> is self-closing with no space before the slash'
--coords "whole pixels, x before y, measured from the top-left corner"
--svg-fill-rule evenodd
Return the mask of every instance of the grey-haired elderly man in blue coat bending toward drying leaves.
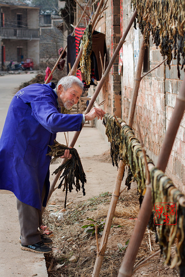
<path id="1" fill-rule="evenodd" d="M 57 132 L 80 131 L 85 120 L 98 119 L 105 112 L 99 108 L 84 114 L 61 114 L 61 107 L 71 109 L 82 93 L 82 82 L 74 77 L 54 83 L 33 84 L 19 90 L 10 103 L 0 139 L 0 189 L 17 197 L 21 248 L 50 253 L 46 244 L 52 240 L 40 235 L 42 206 L 49 192 L 48 145 Z M 66 150 L 62 158 L 71 158 Z"/>

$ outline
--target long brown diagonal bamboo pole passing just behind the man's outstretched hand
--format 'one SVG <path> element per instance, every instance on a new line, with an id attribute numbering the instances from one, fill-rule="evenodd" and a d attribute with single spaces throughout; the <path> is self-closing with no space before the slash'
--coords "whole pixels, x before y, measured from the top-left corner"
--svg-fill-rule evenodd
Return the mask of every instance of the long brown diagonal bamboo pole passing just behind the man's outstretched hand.
<path id="1" fill-rule="evenodd" d="M 114 54 L 113 54 L 113 56 L 112 56 L 112 58 L 111 58 L 111 60 L 109 62 L 109 65 L 107 66 L 107 69 L 105 70 L 105 73 L 102 75 L 101 80 L 99 81 L 99 83 L 98 83 L 98 85 L 96 87 L 96 90 L 95 90 L 94 94 L 92 95 L 91 100 L 90 100 L 90 102 L 88 104 L 88 107 L 85 110 L 84 114 L 87 114 L 92 109 L 92 106 L 93 106 L 93 104 L 94 104 L 98 94 L 100 93 L 100 90 L 101 90 L 101 88 L 102 88 L 102 86 L 103 86 L 103 84 L 105 82 L 105 79 L 107 78 L 107 76 L 109 74 L 109 71 L 110 71 L 111 67 L 113 66 L 113 63 L 114 63 L 114 61 L 115 61 L 115 59 L 116 59 L 116 57 L 117 57 L 117 55 L 118 55 L 122 45 L 123 45 L 123 43 L 125 42 L 125 38 L 126 38 L 128 32 L 129 32 L 129 30 L 130 30 L 130 28 L 131 28 L 131 26 L 132 26 L 132 24 L 134 22 L 134 19 L 135 19 L 136 15 L 137 15 L 137 10 L 135 9 L 132 17 L 130 18 L 130 22 L 129 22 L 127 28 L 125 29 L 125 32 L 124 32 L 123 36 L 121 37 L 120 42 L 118 43 L 118 46 L 117 46 L 117 48 L 116 48 L 116 50 L 115 50 L 115 52 L 114 52 Z M 83 128 L 83 126 L 84 126 L 84 124 L 82 124 L 82 128 Z M 76 143 L 76 140 L 78 139 L 79 135 L 80 135 L 80 131 L 76 131 L 75 135 L 74 135 L 74 137 L 72 139 L 72 142 L 70 143 L 71 147 L 74 147 L 74 145 Z M 65 161 L 65 159 L 62 160 L 61 164 L 63 164 L 64 161 Z M 52 193 L 54 191 L 55 185 L 56 185 L 56 183 L 57 183 L 57 181 L 58 181 L 58 179 L 60 177 L 60 173 L 61 172 L 59 172 L 57 175 L 55 175 L 55 177 L 53 178 L 53 180 L 51 182 L 49 194 L 48 194 L 48 197 L 47 197 L 47 203 L 48 203 L 48 201 L 49 201 L 49 199 L 50 199 L 50 197 L 51 197 L 51 195 L 52 195 Z M 43 211 L 44 211 L 44 209 L 45 208 L 43 207 Z"/>

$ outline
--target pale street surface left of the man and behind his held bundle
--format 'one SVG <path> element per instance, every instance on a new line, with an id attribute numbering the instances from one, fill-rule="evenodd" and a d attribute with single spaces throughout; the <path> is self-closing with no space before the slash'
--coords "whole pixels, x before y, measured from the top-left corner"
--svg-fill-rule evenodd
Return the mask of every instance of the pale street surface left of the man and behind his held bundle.
<path id="1" fill-rule="evenodd" d="M 2 133 L 8 106 L 14 93 L 22 82 L 33 78 L 35 74 L 13 74 L 0 77 L 0 133 Z M 74 132 L 69 134 L 69 141 Z M 64 134 L 58 134 L 57 140 L 65 143 Z M 68 193 L 68 201 L 81 201 L 101 192 L 113 191 L 117 168 L 111 163 L 100 162 L 97 155 L 109 150 L 109 143 L 105 142 L 97 128 L 84 127 L 76 142 L 84 172 L 87 177 L 85 185 L 86 196 L 75 190 Z M 4 157 L 6 159 L 6 157 Z M 56 169 L 56 163 L 51 166 L 51 173 Z M 20 172 L 21 174 L 21 172 Z M 51 179 L 53 176 L 51 176 Z M 25 188 L 28 184 L 25 184 Z M 53 193 L 51 199 L 64 194 L 62 190 Z M 1 266 L 0 276 L 38 276 L 46 277 L 47 270 L 43 254 L 23 251 L 19 246 L 19 222 L 16 209 L 16 198 L 10 191 L 0 191 L 0 237 L 1 237 Z M 35 275 L 34 275 L 35 274 Z"/>

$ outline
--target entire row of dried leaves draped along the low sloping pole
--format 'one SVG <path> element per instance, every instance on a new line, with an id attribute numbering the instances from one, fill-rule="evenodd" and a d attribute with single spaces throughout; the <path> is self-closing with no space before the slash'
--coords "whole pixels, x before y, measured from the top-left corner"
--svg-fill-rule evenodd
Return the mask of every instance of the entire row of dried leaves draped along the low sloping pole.
<path id="1" fill-rule="evenodd" d="M 117 118 L 119 123 L 124 122 L 122 119 Z M 118 166 L 118 159 L 123 159 L 125 165 L 130 170 L 128 175 L 129 182 L 136 180 L 138 183 L 138 191 L 144 195 L 146 191 L 146 171 L 145 162 L 142 152 L 141 144 L 134 136 L 132 129 L 128 125 L 123 125 L 122 128 L 117 124 L 115 118 L 110 114 L 105 114 L 103 124 L 106 127 L 106 135 L 111 145 L 111 157 L 113 165 Z M 153 163 L 152 160 L 146 155 L 147 163 Z M 179 205 L 179 198 L 184 196 L 172 183 L 162 171 L 153 168 L 150 171 L 151 185 L 152 185 L 152 201 L 155 203 L 162 203 L 163 211 L 165 203 L 175 203 L 175 213 L 170 214 L 170 221 L 164 222 L 164 215 L 156 216 L 156 210 L 152 211 L 149 221 L 149 228 L 156 231 L 158 225 L 158 243 L 163 253 L 166 263 L 170 263 L 171 246 L 177 238 L 176 255 L 171 263 L 171 267 L 176 264 L 179 265 L 181 275 L 184 276 L 185 269 L 185 208 Z M 155 220 L 155 224 L 154 224 Z M 164 224 L 166 223 L 166 224 Z M 175 224 L 176 223 L 176 224 Z M 161 224 L 161 225 L 160 225 Z M 174 225 L 170 225 L 174 224 Z"/>

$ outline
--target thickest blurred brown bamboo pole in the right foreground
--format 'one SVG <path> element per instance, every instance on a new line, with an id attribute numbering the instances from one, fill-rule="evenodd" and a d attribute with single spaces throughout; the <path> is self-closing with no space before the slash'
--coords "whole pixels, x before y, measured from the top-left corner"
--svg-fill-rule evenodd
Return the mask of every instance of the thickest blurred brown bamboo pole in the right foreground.
<path id="1" fill-rule="evenodd" d="M 179 94 L 176 97 L 175 108 L 169 123 L 165 138 L 162 143 L 161 151 L 159 154 L 157 167 L 158 169 L 165 171 L 168 163 L 168 159 L 173 147 L 173 143 L 183 117 L 185 110 L 185 78 L 181 85 Z M 139 246 L 142 242 L 143 235 L 146 230 L 147 223 L 150 219 L 152 212 L 152 199 L 151 199 L 151 187 L 146 187 L 146 193 L 144 195 L 141 209 L 139 212 L 138 220 L 134 227 L 133 234 L 130 238 L 129 246 L 127 247 L 123 262 L 119 269 L 118 277 L 130 277 L 133 274 L 133 267 L 136 255 L 138 253 Z"/>

